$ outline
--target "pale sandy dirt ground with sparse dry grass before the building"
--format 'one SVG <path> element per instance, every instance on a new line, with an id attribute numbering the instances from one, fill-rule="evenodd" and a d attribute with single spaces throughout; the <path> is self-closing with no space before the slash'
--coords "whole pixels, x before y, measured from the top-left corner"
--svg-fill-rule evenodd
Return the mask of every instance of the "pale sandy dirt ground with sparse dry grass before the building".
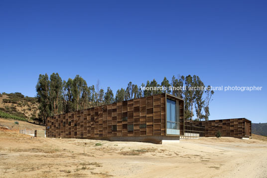
<path id="1" fill-rule="evenodd" d="M 32 138 L 0 130 L 0 177 L 267 178 L 267 141 L 257 137 L 155 145 Z"/>

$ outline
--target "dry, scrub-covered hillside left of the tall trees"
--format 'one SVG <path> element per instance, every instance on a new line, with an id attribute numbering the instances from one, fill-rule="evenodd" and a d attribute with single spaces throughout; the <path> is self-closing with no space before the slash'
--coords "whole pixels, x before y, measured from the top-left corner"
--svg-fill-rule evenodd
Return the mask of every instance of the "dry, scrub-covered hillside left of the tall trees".
<path id="1" fill-rule="evenodd" d="M 0 111 L 28 121 L 36 120 L 39 114 L 36 98 L 18 92 L 0 94 Z"/>

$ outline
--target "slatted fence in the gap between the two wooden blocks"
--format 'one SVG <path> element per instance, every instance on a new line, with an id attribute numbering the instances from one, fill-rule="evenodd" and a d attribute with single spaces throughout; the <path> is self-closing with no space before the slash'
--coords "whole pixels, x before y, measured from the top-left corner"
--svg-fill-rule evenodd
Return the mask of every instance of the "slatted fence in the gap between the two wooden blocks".
<path id="1" fill-rule="evenodd" d="M 205 137 L 205 127 L 184 126 L 184 136 L 180 139 L 200 139 Z"/>

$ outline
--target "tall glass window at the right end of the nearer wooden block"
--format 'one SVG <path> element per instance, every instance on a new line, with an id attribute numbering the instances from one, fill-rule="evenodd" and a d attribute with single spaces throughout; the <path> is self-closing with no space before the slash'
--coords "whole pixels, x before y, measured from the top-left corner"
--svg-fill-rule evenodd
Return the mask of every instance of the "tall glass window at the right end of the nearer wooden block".
<path id="1" fill-rule="evenodd" d="M 167 99 L 167 129 L 179 129 L 178 115 L 176 110 L 176 102 Z"/>

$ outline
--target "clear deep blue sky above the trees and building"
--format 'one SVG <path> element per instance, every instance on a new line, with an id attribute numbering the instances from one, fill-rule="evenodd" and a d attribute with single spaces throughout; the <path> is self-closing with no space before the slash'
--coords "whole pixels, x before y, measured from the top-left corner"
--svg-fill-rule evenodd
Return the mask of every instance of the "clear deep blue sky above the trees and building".
<path id="1" fill-rule="evenodd" d="M 210 119 L 267 122 L 265 0 L 0 0 L 0 92 L 35 96 L 39 74 L 126 88 L 198 75 Z"/>

